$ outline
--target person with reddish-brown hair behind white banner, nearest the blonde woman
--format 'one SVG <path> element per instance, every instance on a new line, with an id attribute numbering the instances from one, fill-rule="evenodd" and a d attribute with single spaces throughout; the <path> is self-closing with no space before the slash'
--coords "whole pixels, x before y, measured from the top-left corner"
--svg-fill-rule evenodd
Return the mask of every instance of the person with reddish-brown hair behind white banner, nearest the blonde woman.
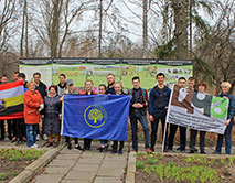
<path id="1" fill-rule="evenodd" d="M 202 99 L 205 98 L 205 96 L 207 95 L 205 93 L 205 89 L 206 89 L 206 84 L 205 82 L 200 82 L 197 84 L 197 88 L 199 88 L 199 92 L 197 92 L 197 96 Z M 195 143 L 196 143 L 196 136 L 197 136 L 197 130 L 194 130 L 194 129 L 191 129 L 191 136 L 190 136 L 190 153 L 194 153 L 196 152 L 196 149 L 195 149 Z M 200 153 L 202 154 L 205 154 L 205 134 L 206 134 L 206 131 L 200 131 Z"/>

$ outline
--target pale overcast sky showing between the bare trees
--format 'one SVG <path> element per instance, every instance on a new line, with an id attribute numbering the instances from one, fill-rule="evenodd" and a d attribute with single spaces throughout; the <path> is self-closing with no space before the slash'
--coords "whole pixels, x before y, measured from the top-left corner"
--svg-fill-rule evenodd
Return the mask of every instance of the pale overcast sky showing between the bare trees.
<path id="1" fill-rule="evenodd" d="M 42 20 L 42 17 L 39 15 L 40 3 L 35 3 L 39 1 L 36 1 L 36 0 L 28 0 L 28 1 L 29 1 L 29 9 L 30 9 L 29 12 L 31 13 L 32 19 L 39 20 L 39 21 Z M 84 1 L 84 0 L 79 0 L 79 1 L 72 0 L 72 1 L 74 1 L 75 3 L 78 4 L 81 1 Z M 161 1 L 163 1 L 163 0 L 158 0 L 158 2 L 161 2 Z M 223 1 L 225 1 L 225 0 L 223 0 Z M 232 0 L 228 0 L 228 1 L 232 2 Z M 0 7 L 2 7 L 3 2 L 4 1 L 0 2 Z M 98 6 L 98 2 L 99 2 L 99 0 L 94 0 L 94 4 L 96 7 Z M 110 2 L 109 0 L 103 0 L 104 9 L 107 8 L 109 2 Z M 141 3 L 142 1 L 131 0 L 131 2 Z M 117 15 L 117 17 L 119 19 L 121 26 L 124 26 L 125 30 L 128 30 L 128 32 L 125 32 L 124 35 L 126 35 L 132 42 L 141 43 L 141 40 L 142 40 L 141 18 L 138 18 L 137 15 L 133 14 L 133 13 L 136 13 L 140 17 L 142 15 L 141 4 L 135 6 L 133 3 L 130 3 L 129 0 L 114 0 L 114 4 L 119 10 L 119 15 Z M 20 10 L 20 8 L 18 8 L 18 10 Z M 108 10 L 109 15 L 113 13 L 113 10 L 114 10 L 114 7 L 110 7 L 110 9 Z M 158 40 L 159 35 L 161 34 L 162 18 L 160 15 L 160 12 L 158 11 L 159 8 L 154 7 L 154 10 L 157 13 L 149 11 L 148 25 L 149 25 L 149 29 L 151 30 L 151 31 L 149 31 L 149 36 L 157 37 L 157 40 Z M 209 15 L 206 15 L 202 11 L 202 9 L 201 10 L 199 9 L 199 12 L 210 24 L 214 23 L 214 20 L 212 20 Z M 19 13 L 22 13 L 22 12 L 19 12 Z M 73 25 L 71 26 L 73 32 L 79 33 L 79 32 L 84 32 L 84 31 L 87 31 L 87 30 L 94 29 L 94 28 L 96 30 L 98 30 L 98 28 L 95 26 L 98 24 L 98 21 L 94 21 L 95 13 L 98 14 L 98 11 L 85 11 L 82 15 L 82 19 L 75 20 Z M 117 12 L 116 12 L 116 14 L 117 14 Z M 20 15 L 18 15 L 18 17 L 20 17 Z M 220 17 L 220 14 L 216 14 L 216 11 L 215 11 L 214 18 L 216 19 L 217 17 Z M 106 19 L 106 20 L 108 20 L 108 19 Z M 133 23 L 131 23 L 131 22 L 133 22 Z M 19 43 L 20 43 L 22 20 L 18 19 L 18 21 L 15 21 L 14 23 L 18 24 L 19 29 L 17 30 L 17 35 L 11 40 L 11 43 L 12 44 L 17 43 L 15 45 L 20 45 Z M 103 30 L 115 32 L 116 30 L 114 29 L 114 26 L 117 28 L 117 24 L 111 25 L 110 21 L 105 21 Z M 30 29 L 31 29 L 30 37 L 32 37 L 32 40 L 35 41 L 38 35 L 34 31 L 32 31 L 33 30 L 32 26 Z M 151 39 L 150 39 L 150 41 L 151 41 Z M 19 46 L 15 46 L 15 47 L 17 47 L 17 50 L 19 50 Z"/>

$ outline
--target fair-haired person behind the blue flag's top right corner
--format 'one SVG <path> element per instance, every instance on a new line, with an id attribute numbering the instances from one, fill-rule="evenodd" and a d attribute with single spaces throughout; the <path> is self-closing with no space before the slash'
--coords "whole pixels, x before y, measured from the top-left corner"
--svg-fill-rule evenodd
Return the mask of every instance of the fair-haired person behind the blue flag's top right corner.
<path id="1" fill-rule="evenodd" d="M 125 95 L 125 93 L 122 92 L 122 86 L 120 82 L 115 83 L 114 88 L 115 88 L 115 95 Z M 117 149 L 118 149 L 118 141 L 115 140 L 113 144 L 111 153 L 117 153 Z M 118 154 L 122 154 L 122 149 L 124 149 L 124 141 L 119 141 Z"/>

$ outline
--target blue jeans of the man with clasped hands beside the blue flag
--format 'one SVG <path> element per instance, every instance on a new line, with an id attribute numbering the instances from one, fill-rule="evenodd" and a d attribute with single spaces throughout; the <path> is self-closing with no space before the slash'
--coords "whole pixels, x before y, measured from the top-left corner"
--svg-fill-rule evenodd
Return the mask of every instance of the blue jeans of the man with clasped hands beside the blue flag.
<path id="1" fill-rule="evenodd" d="M 140 121 L 140 123 L 142 125 L 142 128 L 143 128 L 146 149 L 149 148 L 149 126 L 148 126 L 146 115 L 141 115 L 140 112 L 135 112 L 130 117 L 130 125 L 131 125 L 131 130 L 132 130 L 132 148 L 133 148 L 133 150 L 138 151 L 138 136 L 137 136 L 138 123 L 137 123 L 137 120 Z"/>

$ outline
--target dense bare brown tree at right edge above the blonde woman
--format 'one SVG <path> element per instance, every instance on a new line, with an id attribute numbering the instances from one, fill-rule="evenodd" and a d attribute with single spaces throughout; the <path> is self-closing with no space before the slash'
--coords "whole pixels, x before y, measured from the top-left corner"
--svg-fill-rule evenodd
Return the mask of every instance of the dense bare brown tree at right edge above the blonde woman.
<path id="1" fill-rule="evenodd" d="M 217 2 L 217 6 L 216 11 L 220 15 L 211 28 L 210 37 L 200 34 L 195 49 L 196 62 L 201 64 L 197 75 L 211 78 L 212 84 L 216 86 L 216 93 L 220 90 L 221 82 L 235 80 L 235 2 L 226 0 Z M 206 67 L 203 68 L 203 64 Z M 209 68 L 212 71 L 207 72 Z"/>

